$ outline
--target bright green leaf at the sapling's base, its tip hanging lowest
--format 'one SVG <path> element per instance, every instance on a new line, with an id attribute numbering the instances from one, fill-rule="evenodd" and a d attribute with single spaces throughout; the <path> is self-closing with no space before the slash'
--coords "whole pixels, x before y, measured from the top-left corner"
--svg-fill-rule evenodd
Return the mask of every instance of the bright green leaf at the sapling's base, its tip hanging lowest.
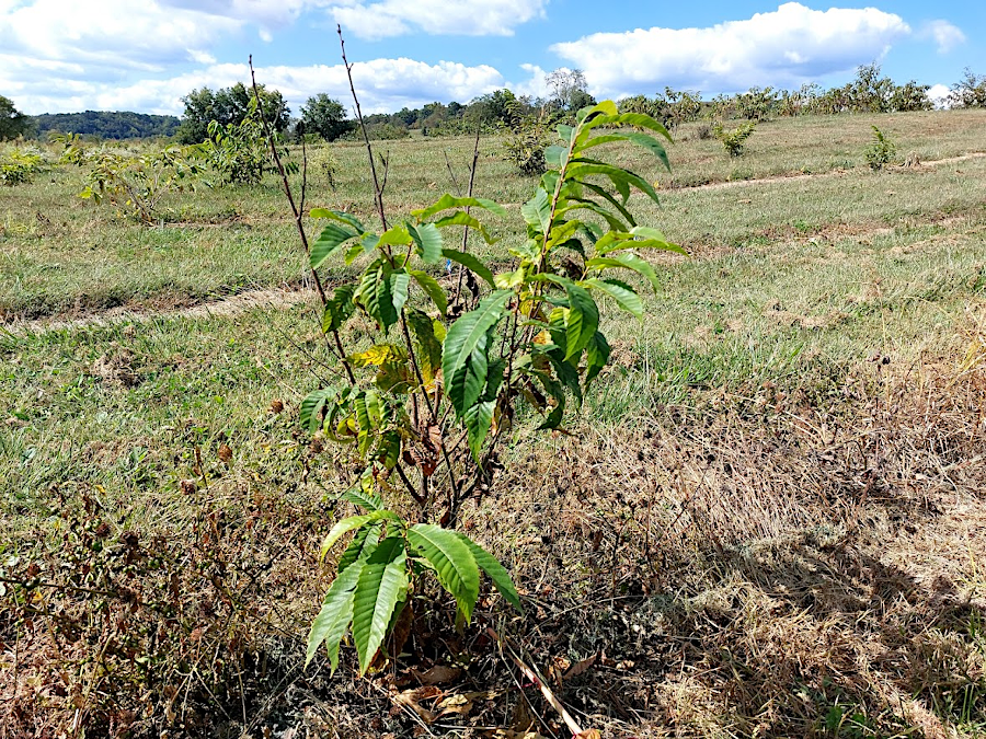
<path id="1" fill-rule="evenodd" d="M 406 592 L 404 541 L 389 536 L 367 558 L 353 594 L 353 642 L 359 655 L 359 674 L 367 671 L 383 644 L 390 616 Z"/>

